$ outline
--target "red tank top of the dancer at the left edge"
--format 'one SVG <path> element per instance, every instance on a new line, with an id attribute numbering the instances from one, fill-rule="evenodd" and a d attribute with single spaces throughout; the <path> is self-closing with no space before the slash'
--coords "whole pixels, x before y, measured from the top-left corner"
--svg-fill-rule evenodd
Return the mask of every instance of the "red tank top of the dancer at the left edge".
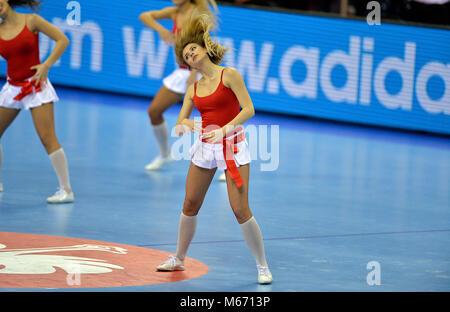
<path id="1" fill-rule="evenodd" d="M 9 79 L 21 82 L 34 75 L 35 71 L 30 67 L 40 64 L 39 59 L 39 33 L 34 34 L 27 26 L 25 15 L 25 26 L 13 39 L 3 40 L 0 38 L 0 55 L 6 60 Z"/>

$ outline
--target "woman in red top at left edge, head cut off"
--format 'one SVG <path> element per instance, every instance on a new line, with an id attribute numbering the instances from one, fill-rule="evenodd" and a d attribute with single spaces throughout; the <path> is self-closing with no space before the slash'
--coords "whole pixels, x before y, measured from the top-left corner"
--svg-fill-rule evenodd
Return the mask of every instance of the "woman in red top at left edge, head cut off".
<path id="1" fill-rule="evenodd" d="M 58 96 L 47 78 L 50 67 L 61 57 L 69 40 L 58 28 L 36 14 L 21 14 L 16 6 L 39 5 L 35 0 L 0 0 L 0 55 L 7 62 L 7 82 L 0 91 L 0 137 L 20 110 L 31 110 L 36 131 L 59 181 L 59 190 L 49 203 L 74 201 L 66 155 L 55 134 L 53 103 Z M 50 56 L 39 59 L 39 33 L 56 41 Z M 0 145 L 0 166 L 2 149 Z M 3 184 L 0 176 L 0 191 Z"/>

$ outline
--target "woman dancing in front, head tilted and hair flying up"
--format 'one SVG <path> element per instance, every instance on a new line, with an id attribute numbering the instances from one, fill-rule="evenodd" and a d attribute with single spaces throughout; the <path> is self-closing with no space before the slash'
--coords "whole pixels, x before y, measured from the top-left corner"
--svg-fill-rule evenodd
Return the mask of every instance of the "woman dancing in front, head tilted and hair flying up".
<path id="1" fill-rule="evenodd" d="M 188 87 L 175 131 L 198 131 L 191 152 L 186 195 L 180 216 L 175 256 L 157 267 L 160 271 L 184 270 L 184 259 L 194 237 L 197 214 L 216 169 L 226 173 L 228 197 L 245 241 L 255 258 L 258 282 L 272 282 L 263 238 L 248 204 L 250 151 L 242 128 L 254 115 L 253 103 L 242 76 L 234 68 L 219 66 L 226 48 L 211 40 L 207 15 L 192 19 L 175 41 L 179 64 L 198 70 L 202 78 Z M 189 120 L 192 108 L 201 122 Z M 241 107 L 241 109 L 240 109 Z"/>

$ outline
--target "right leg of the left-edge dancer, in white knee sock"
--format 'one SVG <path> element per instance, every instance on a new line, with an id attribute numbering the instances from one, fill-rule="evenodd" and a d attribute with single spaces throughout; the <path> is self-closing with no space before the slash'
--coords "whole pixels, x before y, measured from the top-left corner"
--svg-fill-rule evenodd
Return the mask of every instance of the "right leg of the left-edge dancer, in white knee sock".
<path id="1" fill-rule="evenodd" d="M 47 202 L 51 204 L 73 202 L 74 195 L 70 186 L 66 154 L 56 138 L 53 103 L 32 108 L 31 115 L 59 182 L 59 190 L 53 196 L 47 198 Z"/>

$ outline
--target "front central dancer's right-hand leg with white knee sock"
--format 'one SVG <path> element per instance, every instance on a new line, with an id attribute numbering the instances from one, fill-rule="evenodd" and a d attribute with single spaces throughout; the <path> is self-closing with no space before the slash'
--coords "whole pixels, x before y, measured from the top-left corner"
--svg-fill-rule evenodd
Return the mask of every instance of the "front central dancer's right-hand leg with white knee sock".
<path id="1" fill-rule="evenodd" d="M 258 223 L 252 215 L 248 204 L 249 170 L 250 165 L 244 165 L 238 168 L 239 174 L 244 181 L 244 185 L 240 188 L 238 188 L 235 182 L 230 178 L 228 170 L 225 172 L 228 197 L 231 208 L 233 209 L 236 219 L 241 226 L 245 242 L 247 243 L 253 258 L 256 261 L 258 282 L 260 284 L 270 284 L 272 283 L 273 278 L 266 261 L 263 237 Z"/>

